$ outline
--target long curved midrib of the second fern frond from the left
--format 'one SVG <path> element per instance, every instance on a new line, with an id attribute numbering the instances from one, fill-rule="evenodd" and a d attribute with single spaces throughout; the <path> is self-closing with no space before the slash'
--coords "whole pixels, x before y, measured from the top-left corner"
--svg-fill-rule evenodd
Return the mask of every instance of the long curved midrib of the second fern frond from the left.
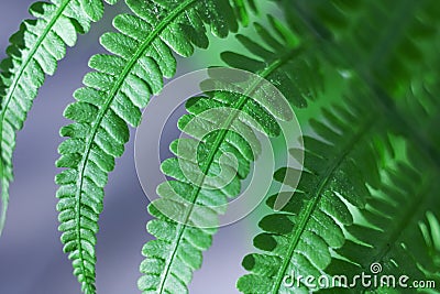
<path id="1" fill-rule="evenodd" d="M 82 257 L 82 246 L 81 246 L 81 197 L 82 197 L 82 185 L 84 185 L 84 178 L 85 178 L 85 171 L 86 171 L 86 165 L 90 155 L 91 146 L 95 141 L 95 137 L 98 132 L 98 129 L 100 127 L 100 123 L 102 122 L 103 117 L 106 116 L 107 111 L 110 108 L 110 105 L 112 104 L 114 96 L 117 92 L 120 90 L 123 81 L 125 80 L 127 76 L 131 73 L 133 66 L 135 63 L 139 61 L 139 58 L 144 54 L 145 50 L 152 44 L 152 42 L 162 33 L 162 31 L 169 24 L 172 23 L 182 12 L 184 12 L 188 7 L 194 4 L 197 0 L 186 0 L 185 2 L 180 3 L 176 9 L 174 9 L 169 14 L 165 17 L 164 20 L 162 20 L 157 26 L 153 30 L 153 32 L 150 33 L 150 35 L 145 39 L 144 43 L 136 50 L 134 55 L 131 57 L 129 63 L 125 65 L 124 69 L 122 70 L 121 75 L 114 83 L 113 87 L 111 88 L 109 95 L 107 95 L 107 101 L 101 107 L 98 111 L 98 116 L 96 121 L 92 123 L 92 128 L 90 130 L 90 135 L 88 137 L 88 140 L 86 141 L 86 148 L 85 148 L 85 153 L 82 156 L 82 160 L 79 165 L 79 178 L 77 181 L 77 190 L 76 190 L 76 215 L 75 218 L 78 220 L 76 221 L 76 236 L 77 236 L 77 244 L 78 244 L 78 259 L 80 260 L 80 266 L 81 271 L 86 272 L 86 268 L 84 264 L 84 257 Z"/>

